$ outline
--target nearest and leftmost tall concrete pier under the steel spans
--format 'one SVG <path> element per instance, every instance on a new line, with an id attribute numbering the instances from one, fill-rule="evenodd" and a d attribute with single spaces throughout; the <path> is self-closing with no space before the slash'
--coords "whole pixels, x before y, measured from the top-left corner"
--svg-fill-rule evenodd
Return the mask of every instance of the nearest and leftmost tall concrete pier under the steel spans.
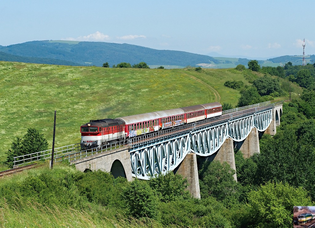
<path id="1" fill-rule="evenodd" d="M 174 170 L 174 174 L 178 173 L 184 178 L 187 178 L 188 184 L 187 190 L 190 191 L 193 197 L 200 199 L 200 187 L 197 168 L 197 156 L 196 154 L 187 154 L 180 165 Z"/>

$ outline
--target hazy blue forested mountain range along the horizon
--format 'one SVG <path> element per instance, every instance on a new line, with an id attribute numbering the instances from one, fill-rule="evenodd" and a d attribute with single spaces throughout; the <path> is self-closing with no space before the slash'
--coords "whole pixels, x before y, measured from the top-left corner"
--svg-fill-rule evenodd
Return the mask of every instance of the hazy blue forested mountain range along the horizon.
<path id="1" fill-rule="evenodd" d="M 102 66 L 104 62 L 108 62 L 112 67 L 120 62 L 129 62 L 131 65 L 146 62 L 151 68 L 158 66 L 231 68 L 238 64 L 247 66 L 249 60 L 248 58 L 212 57 L 184 51 L 156 50 L 132 44 L 106 42 L 43 40 L 9 46 L 0 45 L 0 61 L 71 66 Z M 301 65 L 302 56 L 280 56 L 259 60 L 259 63 L 261 66 L 279 66 L 289 61 L 293 65 Z M 314 62 L 315 55 L 306 56 L 306 63 Z"/>

